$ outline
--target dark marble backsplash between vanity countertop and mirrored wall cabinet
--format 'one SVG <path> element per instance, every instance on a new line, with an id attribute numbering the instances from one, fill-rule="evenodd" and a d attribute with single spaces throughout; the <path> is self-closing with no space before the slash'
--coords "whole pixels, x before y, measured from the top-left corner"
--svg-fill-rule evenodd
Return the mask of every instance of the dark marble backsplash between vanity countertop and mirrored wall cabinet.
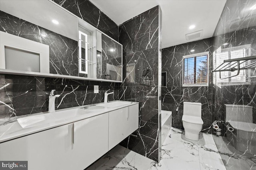
<path id="1" fill-rule="evenodd" d="M 99 93 L 94 94 L 94 85 Z M 120 83 L 0 74 L 0 118 L 48 111 L 50 91 L 60 94 L 55 109 L 104 101 L 104 92 L 114 91 L 109 101 L 118 100 Z"/>

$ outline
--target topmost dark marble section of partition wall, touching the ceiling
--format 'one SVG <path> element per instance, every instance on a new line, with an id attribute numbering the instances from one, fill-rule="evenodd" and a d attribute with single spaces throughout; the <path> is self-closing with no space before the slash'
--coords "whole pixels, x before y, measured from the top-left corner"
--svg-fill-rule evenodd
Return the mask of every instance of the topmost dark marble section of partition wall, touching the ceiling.
<path id="1" fill-rule="evenodd" d="M 119 42 L 125 54 L 158 47 L 158 6 L 119 26 Z"/>

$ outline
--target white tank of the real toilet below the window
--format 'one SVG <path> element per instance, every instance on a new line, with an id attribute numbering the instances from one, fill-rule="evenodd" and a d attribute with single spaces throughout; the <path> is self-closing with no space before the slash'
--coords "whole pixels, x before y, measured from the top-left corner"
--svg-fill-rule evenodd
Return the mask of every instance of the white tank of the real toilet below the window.
<path id="1" fill-rule="evenodd" d="M 184 102 L 183 103 L 183 115 L 197 116 L 201 117 L 202 114 L 202 104 L 194 102 Z"/>

